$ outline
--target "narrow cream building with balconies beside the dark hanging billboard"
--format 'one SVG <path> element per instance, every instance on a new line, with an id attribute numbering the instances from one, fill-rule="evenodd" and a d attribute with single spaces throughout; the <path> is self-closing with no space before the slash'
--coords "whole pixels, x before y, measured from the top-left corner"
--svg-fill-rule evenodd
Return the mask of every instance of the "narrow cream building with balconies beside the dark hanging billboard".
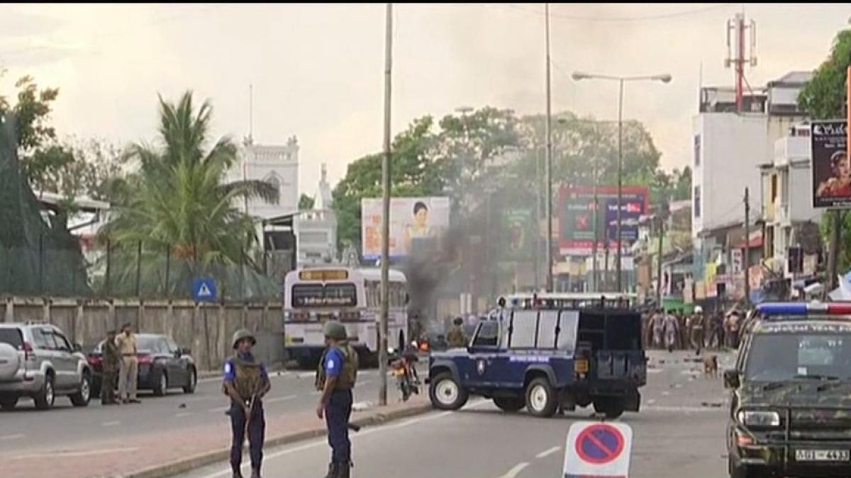
<path id="1" fill-rule="evenodd" d="M 820 250 L 821 210 L 813 207 L 808 124 L 796 125 L 789 136 L 778 139 L 774 161 L 761 170 L 764 263 L 786 278 L 812 275 Z"/>

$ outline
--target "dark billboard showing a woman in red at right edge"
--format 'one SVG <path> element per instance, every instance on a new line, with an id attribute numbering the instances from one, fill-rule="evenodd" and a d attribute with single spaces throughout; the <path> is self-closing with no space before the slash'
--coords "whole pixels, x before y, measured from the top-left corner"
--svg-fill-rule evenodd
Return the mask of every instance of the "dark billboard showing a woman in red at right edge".
<path id="1" fill-rule="evenodd" d="M 817 121 L 810 126 L 813 151 L 813 207 L 851 208 L 851 163 L 844 121 Z"/>

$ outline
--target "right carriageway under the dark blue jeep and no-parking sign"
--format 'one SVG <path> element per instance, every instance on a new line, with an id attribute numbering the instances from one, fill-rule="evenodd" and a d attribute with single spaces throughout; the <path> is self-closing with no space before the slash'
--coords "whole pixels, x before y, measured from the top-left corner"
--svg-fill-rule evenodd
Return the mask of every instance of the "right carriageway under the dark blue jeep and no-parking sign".
<path id="1" fill-rule="evenodd" d="M 727 395 L 720 378 L 707 379 L 686 355 L 652 354 L 643 410 L 622 419 L 633 433 L 631 476 L 726 475 Z M 722 367 L 732 356 L 722 356 Z M 664 363 L 661 363 L 664 361 Z M 696 375 L 696 376 L 695 376 Z M 561 474 L 569 425 L 588 409 L 540 419 L 501 413 L 490 401 L 471 400 L 459 412 L 428 413 L 353 434 L 353 476 L 382 478 L 540 478 Z M 247 457 L 246 457 L 247 458 Z M 321 476 L 328 464 L 324 440 L 267 450 L 264 476 Z M 246 465 L 246 469 L 248 465 Z M 229 476 L 227 464 L 185 478 Z"/>

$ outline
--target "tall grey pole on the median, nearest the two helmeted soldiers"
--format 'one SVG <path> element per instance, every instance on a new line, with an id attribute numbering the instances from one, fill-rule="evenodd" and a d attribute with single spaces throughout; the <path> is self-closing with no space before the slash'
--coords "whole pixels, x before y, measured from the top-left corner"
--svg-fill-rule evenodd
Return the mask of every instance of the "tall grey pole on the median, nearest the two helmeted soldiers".
<path id="1" fill-rule="evenodd" d="M 387 322 L 390 315 L 390 85 L 393 52 L 393 4 L 386 7 L 384 52 L 384 161 L 381 162 L 383 193 L 381 213 L 381 316 L 378 340 L 378 404 L 387 405 Z"/>

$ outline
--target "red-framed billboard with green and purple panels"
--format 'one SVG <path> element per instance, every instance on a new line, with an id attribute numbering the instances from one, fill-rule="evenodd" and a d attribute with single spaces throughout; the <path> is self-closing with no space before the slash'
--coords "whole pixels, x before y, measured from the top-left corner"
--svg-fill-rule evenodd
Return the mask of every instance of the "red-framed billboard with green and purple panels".
<path id="1" fill-rule="evenodd" d="M 621 188 L 620 240 L 624 250 L 638 239 L 638 219 L 647 211 L 648 188 Z M 594 247 L 594 188 L 591 186 L 563 187 L 559 191 L 559 240 L 565 255 L 589 255 Z M 607 246 L 615 252 L 618 247 L 618 188 L 597 187 L 597 249 Z"/>

